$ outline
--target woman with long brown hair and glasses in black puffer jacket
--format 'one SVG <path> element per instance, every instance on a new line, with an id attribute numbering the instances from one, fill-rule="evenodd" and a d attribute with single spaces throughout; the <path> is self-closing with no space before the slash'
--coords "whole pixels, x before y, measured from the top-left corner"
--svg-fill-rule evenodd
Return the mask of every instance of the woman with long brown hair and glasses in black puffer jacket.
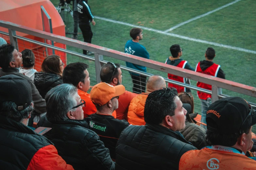
<path id="1" fill-rule="evenodd" d="M 43 60 L 41 72 L 35 73 L 34 78 L 35 86 L 43 98 L 49 90 L 63 84 L 63 69 L 64 63 L 57 55 L 50 55 Z"/>

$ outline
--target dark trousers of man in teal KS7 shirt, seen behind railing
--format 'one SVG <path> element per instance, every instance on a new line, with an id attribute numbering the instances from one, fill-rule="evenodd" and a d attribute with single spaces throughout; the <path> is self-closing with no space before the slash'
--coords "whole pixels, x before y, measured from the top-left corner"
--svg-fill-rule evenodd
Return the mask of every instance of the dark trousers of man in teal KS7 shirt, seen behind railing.
<path id="1" fill-rule="evenodd" d="M 146 90 L 146 76 L 135 76 L 131 74 L 133 88 L 132 92 L 134 93 L 145 93 Z"/>

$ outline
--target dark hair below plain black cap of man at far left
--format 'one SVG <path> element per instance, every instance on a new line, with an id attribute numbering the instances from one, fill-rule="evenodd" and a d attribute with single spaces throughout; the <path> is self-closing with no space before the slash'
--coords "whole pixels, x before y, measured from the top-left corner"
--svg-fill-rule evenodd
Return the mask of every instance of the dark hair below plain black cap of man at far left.
<path id="1" fill-rule="evenodd" d="M 7 118 L 17 122 L 21 122 L 22 120 L 28 118 L 29 113 L 34 110 L 31 104 L 24 110 L 18 110 L 17 104 L 12 101 L 5 101 L 0 105 L 0 115 L 6 116 Z"/>

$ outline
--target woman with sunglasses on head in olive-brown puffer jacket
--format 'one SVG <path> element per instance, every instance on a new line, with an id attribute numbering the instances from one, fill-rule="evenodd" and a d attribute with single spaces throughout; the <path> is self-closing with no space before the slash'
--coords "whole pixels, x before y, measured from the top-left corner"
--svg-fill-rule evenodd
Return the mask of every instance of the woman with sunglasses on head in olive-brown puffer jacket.
<path id="1" fill-rule="evenodd" d="M 181 130 L 180 133 L 184 136 L 184 138 L 191 142 L 197 149 L 202 149 L 207 145 L 205 140 L 206 130 L 198 126 L 194 120 L 198 113 L 194 113 L 194 97 L 191 93 L 188 92 L 180 92 L 178 94 L 180 101 L 184 104 L 190 104 L 191 110 L 186 114 L 186 127 Z"/>

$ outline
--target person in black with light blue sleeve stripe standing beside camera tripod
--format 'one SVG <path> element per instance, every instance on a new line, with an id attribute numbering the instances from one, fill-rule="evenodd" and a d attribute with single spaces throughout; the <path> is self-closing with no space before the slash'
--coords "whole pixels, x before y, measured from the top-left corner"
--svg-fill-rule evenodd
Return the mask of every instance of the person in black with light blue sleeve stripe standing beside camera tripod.
<path id="1" fill-rule="evenodd" d="M 92 37 L 93 32 L 90 26 L 90 23 L 93 23 L 93 26 L 95 25 L 94 16 L 91 12 L 91 8 L 88 5 L 88 0 L 81 0 L 77 4 L 77 11 L 79 13 L 79 28 L 82 31 L 84 42 L 92 43 Z M 86 50 L 83 50 L 83 54 L 90 55 L 93 54 L 93 52 L 88 52 Z"/>

